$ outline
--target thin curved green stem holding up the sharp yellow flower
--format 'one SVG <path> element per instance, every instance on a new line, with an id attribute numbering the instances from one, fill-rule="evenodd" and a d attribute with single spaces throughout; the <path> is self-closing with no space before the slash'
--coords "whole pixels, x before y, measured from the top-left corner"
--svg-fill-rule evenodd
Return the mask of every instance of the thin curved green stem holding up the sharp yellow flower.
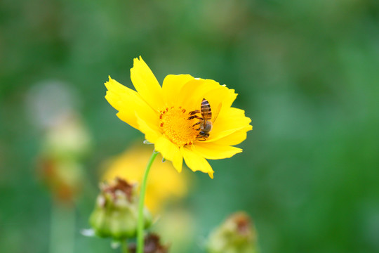
<path id="1" fill-rule="evenodd" d="M 157 157 L 158 152 L 155 150 L 150 157 L 149 162 L 147 163 L 145 175 L 143 176 L 143 180 L 141 183 L 140 190 L 140 202 L 138 205 L 138 228 L 137 228 L 137 253 L 143 253 L 143 205 L 145 202 L 145 192 L 147 186 L 147 176 L 149 176 L 150 167 L 152 167 L 152 163 L 154 162 L 155 157 Z"/>

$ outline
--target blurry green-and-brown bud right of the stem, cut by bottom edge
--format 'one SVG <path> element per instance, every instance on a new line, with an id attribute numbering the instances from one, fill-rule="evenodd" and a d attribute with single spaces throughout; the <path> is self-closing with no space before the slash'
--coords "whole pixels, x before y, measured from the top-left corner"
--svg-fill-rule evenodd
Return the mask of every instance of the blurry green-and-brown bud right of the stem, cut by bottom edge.
<path id="1" fill-rule="evenodd" d="M 208 253 L 255 253 L 256 233 L 244 212 L 232 214 L 208 238 Z"/>

